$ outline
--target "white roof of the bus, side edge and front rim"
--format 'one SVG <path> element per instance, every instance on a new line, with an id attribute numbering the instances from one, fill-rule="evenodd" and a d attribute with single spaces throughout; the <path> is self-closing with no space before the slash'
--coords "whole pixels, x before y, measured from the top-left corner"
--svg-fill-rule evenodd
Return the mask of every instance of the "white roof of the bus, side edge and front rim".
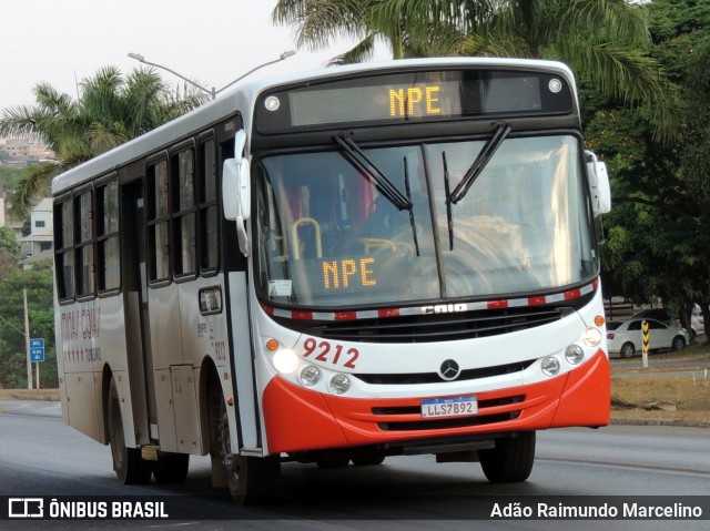
<path id="1" fill-rule="evenodd" d="M 427 58 L 404 59 L 397 61 L 382 61 L 358 63 L 343 67 L 332 67 L 315 71 L 301 72 L 274 76 L 257 81 L 245 82 L 231 89 L 224 95 L 195 109 L 160 127 L 135 137 L 111 151 L 95 156 L 71 170 L 58 175 L 52 181 L 52 194 L 58 195 L 67 190 L 89 182 L 92 178 L 139 160 L 149 153 L 169 146 L 181 137 L 186 137 L 196 131 L 224 120 L 236 111 L 242 111 L 244 127 L 251 131 L 252 118 L 247 110 L 253 109 L 256 98 L 267 89 L 308 80 L 327 80 L 331 78 L 354 74 L 358 72 L 385 72 L 407 70 L 425 67 L 489 67 L 521 70 L 552 71 L 567 78 L 574 88 L 574 75 L 569 68 L 557 61 L 534 59 L 506 58 Z M 575 100 L 577 94 L 574 94 Z"/>

